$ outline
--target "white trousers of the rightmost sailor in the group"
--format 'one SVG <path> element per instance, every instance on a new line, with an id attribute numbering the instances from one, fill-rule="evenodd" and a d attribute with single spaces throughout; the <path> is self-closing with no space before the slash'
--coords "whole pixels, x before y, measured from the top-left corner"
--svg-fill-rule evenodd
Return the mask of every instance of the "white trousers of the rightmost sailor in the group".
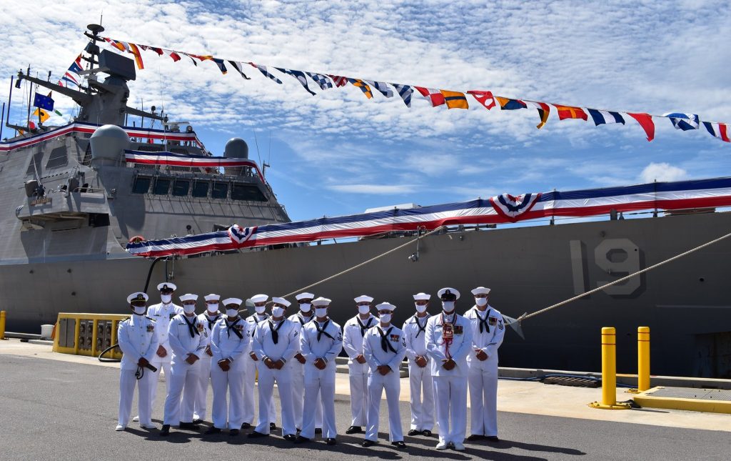
<path id="1" fill-rule="evenodd" d="M 490 360 L 469 363 L 471 432 L 498 435 L 498 366 Z"/>

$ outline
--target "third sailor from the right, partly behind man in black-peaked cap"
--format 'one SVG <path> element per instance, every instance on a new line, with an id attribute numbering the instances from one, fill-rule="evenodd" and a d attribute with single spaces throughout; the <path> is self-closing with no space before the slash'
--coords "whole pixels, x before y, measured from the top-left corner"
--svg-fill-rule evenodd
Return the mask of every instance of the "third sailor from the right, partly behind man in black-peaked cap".
<path id="1" fill-rule="evenodd" d="M 431 379 L 429 356 L 426 353 L 426 312 L 430 294 L 414 295 L 416 313 L 409 317 L 404 326 L 406 338 L 406 357 L 409 359 L 409 384 L 411 385 L 411 429 L 409 435 L 425 435 L 431 437 L 434 426 L 434 386 Z"/>

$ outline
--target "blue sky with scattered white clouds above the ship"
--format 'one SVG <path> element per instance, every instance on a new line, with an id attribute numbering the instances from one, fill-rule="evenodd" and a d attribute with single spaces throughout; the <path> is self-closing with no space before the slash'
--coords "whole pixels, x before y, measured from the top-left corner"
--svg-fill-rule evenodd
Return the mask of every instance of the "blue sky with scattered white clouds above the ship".
<path id="1" fill-rule="evenodd" d="M 731 122 L 731 13 L 720 1 L 35 3 L 0 4 L 8 78 L 30 64 L 58 79 L 86 45 L 86 24 L 103 12 L 109 37 L 224 59 Z M 244 138 L 251 158 L 270 162 L 267 179 L 292 220 L 728 175 L 729 143 L 668 120 L 655 119 L 651 143 L 629 118 L 594 127 L 552 113 L 537 130 L 536 110 L 488 112 L 471 97 L 470 110 L 447 110 L 414 94 L 409 109 L 398 95 L 376 92 L 369 101 L 353 86 L 312 97 L 276 71 L 283 85 L 253 67 L 243 80 L 210 62 L 143 58 L 129 105 L 164 105 L 171 119 L 191 121 L 216 155 L 229 138 Z M 64 97 L 56 104 L 73 112 Z"/>

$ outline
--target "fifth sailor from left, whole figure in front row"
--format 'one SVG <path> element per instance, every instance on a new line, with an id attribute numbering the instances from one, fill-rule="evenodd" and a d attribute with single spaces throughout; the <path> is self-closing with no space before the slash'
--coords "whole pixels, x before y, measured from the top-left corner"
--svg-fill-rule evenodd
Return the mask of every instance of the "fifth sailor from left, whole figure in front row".
<path id="1" fill-rule="evenodd" d="M 243 373 L 247 353 L 251 347 L 249 328 L 238 315 L 241 300 L 228 298 L 223 301 L 226 316 L 213 326 L 211 336 L 211 387 L 213 387 L 213 426 L 206 434 L 216 434 L 229 429 L 229 435 L 238 435 L 243 421 Z M 231 402 L 227 405 L 226 393 Z"/>

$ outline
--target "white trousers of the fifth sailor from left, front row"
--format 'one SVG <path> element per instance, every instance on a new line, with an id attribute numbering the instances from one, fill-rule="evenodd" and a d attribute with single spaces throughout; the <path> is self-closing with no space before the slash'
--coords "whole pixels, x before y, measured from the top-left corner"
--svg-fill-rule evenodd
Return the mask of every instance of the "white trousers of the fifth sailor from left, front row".
<path id="1" fill-rule="evenodd" d="M 211 367 L 213 388 L 213 427 L 240 429 L 243 424 L 243 370 L 224 372 L 218 364 Z M 231 402 L 227 405 L 227 393 Z"/>

